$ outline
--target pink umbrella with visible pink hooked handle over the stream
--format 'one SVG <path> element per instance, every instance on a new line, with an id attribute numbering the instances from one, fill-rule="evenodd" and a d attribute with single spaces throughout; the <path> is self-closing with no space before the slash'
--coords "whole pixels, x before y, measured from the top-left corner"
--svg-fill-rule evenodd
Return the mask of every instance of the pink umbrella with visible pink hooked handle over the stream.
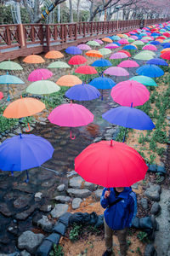
<path id="1" fill-rule="evenodd" d="M 94 114 L 88 108 L 71 102 L 54 108 L 49 113 L 48 120 L 54 125 L 77 127 L 93 122 Z M 71 139 L 75 139 L 75 137 L 71 137 Z"/>

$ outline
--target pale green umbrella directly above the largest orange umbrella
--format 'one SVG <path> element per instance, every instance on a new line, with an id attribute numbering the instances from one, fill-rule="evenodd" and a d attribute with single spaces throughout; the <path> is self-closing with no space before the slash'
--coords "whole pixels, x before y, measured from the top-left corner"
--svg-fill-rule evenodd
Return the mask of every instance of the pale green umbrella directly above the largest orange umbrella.
<path id="1" fill-rule="evenodd" d="M 27 88 L 26 92 L 31 94 L 50 94 L 60 90 L 59 85 L 52 81 L 40 80 L 31 83 Z"/>

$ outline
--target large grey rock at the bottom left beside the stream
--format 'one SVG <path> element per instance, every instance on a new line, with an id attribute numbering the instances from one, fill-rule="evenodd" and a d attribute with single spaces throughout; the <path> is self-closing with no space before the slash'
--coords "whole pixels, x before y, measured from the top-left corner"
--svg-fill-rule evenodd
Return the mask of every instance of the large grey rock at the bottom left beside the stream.
<path id="1" fill-rule="evenodd" d="M 36 253 L 37 247 L 41 244 L 43 238 L 42 234 L 34 234 L 28 230 L 19 236 L 18 247 L 26 249 L 29 253 Z"/>

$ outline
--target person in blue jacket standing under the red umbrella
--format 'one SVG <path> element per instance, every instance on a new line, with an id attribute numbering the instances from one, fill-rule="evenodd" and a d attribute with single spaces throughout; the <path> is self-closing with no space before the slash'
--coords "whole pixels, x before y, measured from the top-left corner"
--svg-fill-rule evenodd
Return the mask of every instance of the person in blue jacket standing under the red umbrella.
<path id="1" fill-rule="evenodd" d="M 112 255 L 112 236 L 116 230 L 121 256 L 127 255 L 127 230 L 137 213 L 136 194 L 131 187 L 103 189 L 100 204 L 105 209 L 105 247 L 103 256 Z"/>

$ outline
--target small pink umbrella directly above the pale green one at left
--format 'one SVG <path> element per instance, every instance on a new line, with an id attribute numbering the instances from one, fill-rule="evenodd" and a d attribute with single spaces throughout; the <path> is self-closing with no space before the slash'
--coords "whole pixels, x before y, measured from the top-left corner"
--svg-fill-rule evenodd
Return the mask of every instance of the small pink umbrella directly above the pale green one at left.
<path id="1" fill-rule="evenodd" d="M 46 68 L 35 69 L 28 76 L 28 81 L 35 82 L 47 80 L 53 76 L 53 73 Z"/>

